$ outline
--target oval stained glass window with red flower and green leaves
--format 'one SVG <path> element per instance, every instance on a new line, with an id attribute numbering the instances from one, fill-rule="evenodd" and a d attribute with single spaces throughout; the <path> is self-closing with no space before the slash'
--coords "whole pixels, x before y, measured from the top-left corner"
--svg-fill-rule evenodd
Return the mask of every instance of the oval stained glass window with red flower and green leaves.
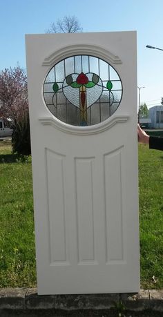
<path id="1" fill-rule="evenodd" d="M 62 122 L 91 126 L 117 110 L 122 99 L 122 81 L 106 61 L 77 55 L 59 61 L 44 81 L 44 100 Z"/>

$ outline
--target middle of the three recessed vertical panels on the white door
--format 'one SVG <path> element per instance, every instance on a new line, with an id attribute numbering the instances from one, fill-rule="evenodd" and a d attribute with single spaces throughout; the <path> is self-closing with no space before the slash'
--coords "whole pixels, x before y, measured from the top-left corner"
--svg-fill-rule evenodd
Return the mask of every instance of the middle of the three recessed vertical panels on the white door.
<path id="1" fill-rule="evenodd" d="M 95 261 L 93 160 L 75 158 L 75 188 L 79 264 Z"/>

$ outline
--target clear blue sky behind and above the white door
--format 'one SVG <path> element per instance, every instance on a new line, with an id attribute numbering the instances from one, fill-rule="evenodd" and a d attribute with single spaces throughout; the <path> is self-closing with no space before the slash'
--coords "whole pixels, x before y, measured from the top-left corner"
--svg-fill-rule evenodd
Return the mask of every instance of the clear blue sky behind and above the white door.
<path id="1" fill-rule="evenodd" d="M 50 23 L 75 15 L 84 32 L 137 31 L 137 85 L 141 103 L 160 104 L 163 97 L 162 0 L 0 0 L 0 70 L 26 68 L 25 34 L 45 33 Z"/>

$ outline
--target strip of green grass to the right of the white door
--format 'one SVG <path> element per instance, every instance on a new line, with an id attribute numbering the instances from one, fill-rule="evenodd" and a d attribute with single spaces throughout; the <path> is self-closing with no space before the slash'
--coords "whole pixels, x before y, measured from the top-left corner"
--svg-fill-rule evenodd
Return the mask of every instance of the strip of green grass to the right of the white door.
<path id="1" fill-rule="evenodd" d="M 139 146 L 141 284 L 163 287 L 163 152 Z M 153 276 L 155 280 L 153 281 Z"/>

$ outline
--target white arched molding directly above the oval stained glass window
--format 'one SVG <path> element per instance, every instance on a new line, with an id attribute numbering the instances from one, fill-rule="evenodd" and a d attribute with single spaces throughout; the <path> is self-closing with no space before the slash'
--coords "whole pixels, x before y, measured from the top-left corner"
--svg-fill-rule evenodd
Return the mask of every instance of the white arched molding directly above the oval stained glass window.
<path id="1" fill-rule="evenodd" d="M 64 46 L 63 48 L 52 52 L 52 54 L 44 59 L 42 66 L 52 66 L 57 64 L 63 58 L 78 54 L 93 55 L 95 57 L 105 59 L 111 64 L 122 64 L 122 60 L 119 56 L 113 54 L 113 52 L 109 52 L 105 48 L 88 44 L 75 44 L 71 46 Z"/>

